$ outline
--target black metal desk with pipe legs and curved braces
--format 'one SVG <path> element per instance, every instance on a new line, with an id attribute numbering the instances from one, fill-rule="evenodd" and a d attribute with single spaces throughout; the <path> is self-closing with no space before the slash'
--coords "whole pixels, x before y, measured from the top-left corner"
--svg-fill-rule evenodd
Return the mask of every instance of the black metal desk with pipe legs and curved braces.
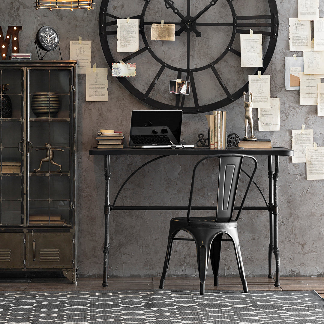
<path id="1" fill-rule="evenodd" d="M 135 174 L 139 169 L 143 168 L 145 165 L 153 162 L 159 158 L 169 156 L 169 155 L 213 155 L 222 153 L 241 153 L 252 156 L 268 156 L 268 178 L 269 178 L 269 203 L 265 207 L 244 207 L 244 210 L 264 210 L 269 212 L 269 227 L 270 227 L 270 243 L 269 243 L 269 272 L 268 277 L 272 278 L 272 253 L 275 256 L 276 261 L 276 272 L 275 272 L 275 287 L 280 287 L 279 282 L 279 248 L 278 248 L 278 178 L 279 178 L 279 156 L 293 156 L 294 151 L 284 148 L 284 147 L 273 147 L 273 148 L 259 148 L 259 149 L 226 149 L 226 150 L 210 150 L 207 148 L 194 148 L 194 149 L 134 149 L 125 147 L 123 149 L 103 149 L 103 148 L 92 148 L 89 150 L 90 155 L 103 155 L 105 157 L 105 242 L 103 249 L 104 256 L 104 271 L 103 271 L 103 283 L 104 287 L 108 286 L 108 256 L 109 256 L 109 215 L 112 210 L 186 210 L 186 206 L 115 206 L 117 196 L 119 195 L 124 184 L 130 179 L 133 174 Z M 110 192 L 109 192 L 109 181 L 110 181 L 110 155 L 146 155 L 153 156 L 158 155 L 158 157 L 151 159 L 137 170 L 135 170 L 122 184 L 120 190 L 117 193 L 114 203 L 110 203 Z M 272 157 L 275 159 L 275 168 L 273 171 Z M 259 189 L 260 191 L 260 189 Z M 260 191 L 261 192 L 261 191 Z M 262 192 L 261 192 L 262 194 Z M 262 194 L 263 195 L 263 194 Z M 215 210 L 215 206 L 206 207 L 192 207 L 192 210 Z"/>

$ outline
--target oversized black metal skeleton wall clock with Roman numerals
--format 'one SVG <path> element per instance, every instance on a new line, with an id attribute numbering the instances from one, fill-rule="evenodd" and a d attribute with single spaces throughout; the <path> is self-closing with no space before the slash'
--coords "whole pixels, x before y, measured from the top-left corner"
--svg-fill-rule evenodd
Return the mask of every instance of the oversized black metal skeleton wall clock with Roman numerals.
<path id="1" fill-rule="evenodd" d="M 138 19 L 139 49 L 117 53 L 117 19 Z M 153 23 L 175 24 L 175 41 L 152 41 Z M 240 34 L 262 34 L 263 66 L 241 67 Z M 157 109 L 201 113 L 248 92 L 248 75 L 263 74 L 278 35 L 275 0 L 102 0 L 101 46 L 112 63 L 136 63 L 135 77 L 117 77 L 136 98 Z M 189 80 L 189 95 L 169 92 L 170 80 Z"/>

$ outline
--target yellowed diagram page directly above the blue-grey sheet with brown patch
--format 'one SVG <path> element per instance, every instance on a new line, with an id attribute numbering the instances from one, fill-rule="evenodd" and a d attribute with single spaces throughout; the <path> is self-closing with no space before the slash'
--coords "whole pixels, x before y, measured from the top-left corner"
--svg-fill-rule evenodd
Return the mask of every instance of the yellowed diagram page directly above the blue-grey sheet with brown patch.
<path id="1" fill-rule="evenodd" d="M 310 51 L 310 20 L 289 18 L 289 51 Z"/>

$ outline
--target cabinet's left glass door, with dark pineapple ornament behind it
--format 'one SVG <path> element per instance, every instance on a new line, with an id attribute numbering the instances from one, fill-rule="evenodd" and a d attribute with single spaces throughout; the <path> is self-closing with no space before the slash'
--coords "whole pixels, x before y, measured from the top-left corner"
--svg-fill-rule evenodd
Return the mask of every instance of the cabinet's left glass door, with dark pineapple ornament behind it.
<path id="1" fill-rule="evenodd" d="M 0 70 L 0 226 L 23 225 L 23 69 Z"/>

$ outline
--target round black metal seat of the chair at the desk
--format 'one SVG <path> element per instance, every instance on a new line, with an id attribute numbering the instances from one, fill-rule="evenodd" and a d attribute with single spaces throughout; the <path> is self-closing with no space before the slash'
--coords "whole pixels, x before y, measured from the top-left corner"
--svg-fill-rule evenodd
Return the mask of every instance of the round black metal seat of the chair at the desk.
<path id="1" fill-rule="evenodd" d="M 216 222 L 215 217 L 190 217 L 190 225 L 187 223 L 186 217 L 174 217 L 171 219 L 171 224 L 177 224 L 177 226 L 181 227 L 198 227 L 198 228 L 235 228 L 237 227 L 237 222 L 235 220 L 231 220 L 230 222 Z"/>

